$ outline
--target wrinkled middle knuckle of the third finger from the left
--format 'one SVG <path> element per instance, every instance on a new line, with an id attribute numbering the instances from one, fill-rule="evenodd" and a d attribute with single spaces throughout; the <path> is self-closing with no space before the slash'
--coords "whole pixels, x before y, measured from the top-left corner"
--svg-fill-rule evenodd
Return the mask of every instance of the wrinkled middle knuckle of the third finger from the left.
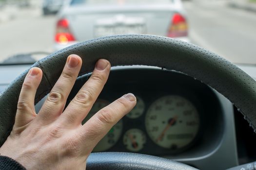
<path id="1" fill-rule="evenodd" d="M 88 107 L 89 105 L 91 105 L 93 99 L 94 99 L 93 94 L 88 89 L 88 90 L 84 90 L 84 91 L 79 92 L 74 100 L 75 100 L 75 102 L 78 102 L 79 105 L 83 105 L 84 107 Z"/>

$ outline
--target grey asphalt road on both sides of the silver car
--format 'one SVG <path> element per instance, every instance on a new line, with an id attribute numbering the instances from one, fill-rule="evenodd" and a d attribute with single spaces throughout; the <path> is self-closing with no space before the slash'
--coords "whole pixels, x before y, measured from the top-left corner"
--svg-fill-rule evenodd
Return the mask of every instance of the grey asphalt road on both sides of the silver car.
<path id="1" fill-rule="evenodd" d="M 226 2 L 184 1 L 191 42 L 234 63 L 256 64 L 256 13 L 230 8 Z M 20 52 L 53 51 L 56 17 L 42 17 L 39 9 L 22 14 L 0 23 L 0 61 Z"/>

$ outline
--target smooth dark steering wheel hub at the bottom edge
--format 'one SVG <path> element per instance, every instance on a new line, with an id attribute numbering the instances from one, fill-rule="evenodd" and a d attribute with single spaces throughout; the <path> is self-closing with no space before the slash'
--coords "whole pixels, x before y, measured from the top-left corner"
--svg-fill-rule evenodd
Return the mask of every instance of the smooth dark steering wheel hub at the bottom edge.
<path id="1" fill-rule="evenodd" d="M 91 153 L 86 170 L 197 170 L 188 165 L 138 153 Z"/>

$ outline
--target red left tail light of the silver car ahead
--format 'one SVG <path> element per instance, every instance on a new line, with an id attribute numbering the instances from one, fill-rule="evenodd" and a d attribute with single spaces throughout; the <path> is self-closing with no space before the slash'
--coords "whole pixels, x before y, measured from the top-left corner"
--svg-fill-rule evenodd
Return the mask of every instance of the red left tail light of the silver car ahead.
<path id="1" fill-rule="evenodd" d="M 74 35 L 69 29 L 69 21 L 67 19 L 60 19 L 57 22 L 55 41 L 60 44 L 67 44 L 70 41 L 75 41 Z"/>

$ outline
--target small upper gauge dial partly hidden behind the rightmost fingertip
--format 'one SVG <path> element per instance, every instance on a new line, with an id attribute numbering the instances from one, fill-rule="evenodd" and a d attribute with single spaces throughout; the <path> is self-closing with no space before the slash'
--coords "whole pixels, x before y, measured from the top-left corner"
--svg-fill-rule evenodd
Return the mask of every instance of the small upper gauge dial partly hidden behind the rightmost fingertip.
<path id="1" fill-rule="evenodd" d="M 137 99 L 137 103 L 135 107 L 126 115 L 128 118 L 136 119 L 140 117 L 144 112 L 144 109 L 145 109 L 144 101 L 138 96 L 136 96 L 136 99 Z"/>

